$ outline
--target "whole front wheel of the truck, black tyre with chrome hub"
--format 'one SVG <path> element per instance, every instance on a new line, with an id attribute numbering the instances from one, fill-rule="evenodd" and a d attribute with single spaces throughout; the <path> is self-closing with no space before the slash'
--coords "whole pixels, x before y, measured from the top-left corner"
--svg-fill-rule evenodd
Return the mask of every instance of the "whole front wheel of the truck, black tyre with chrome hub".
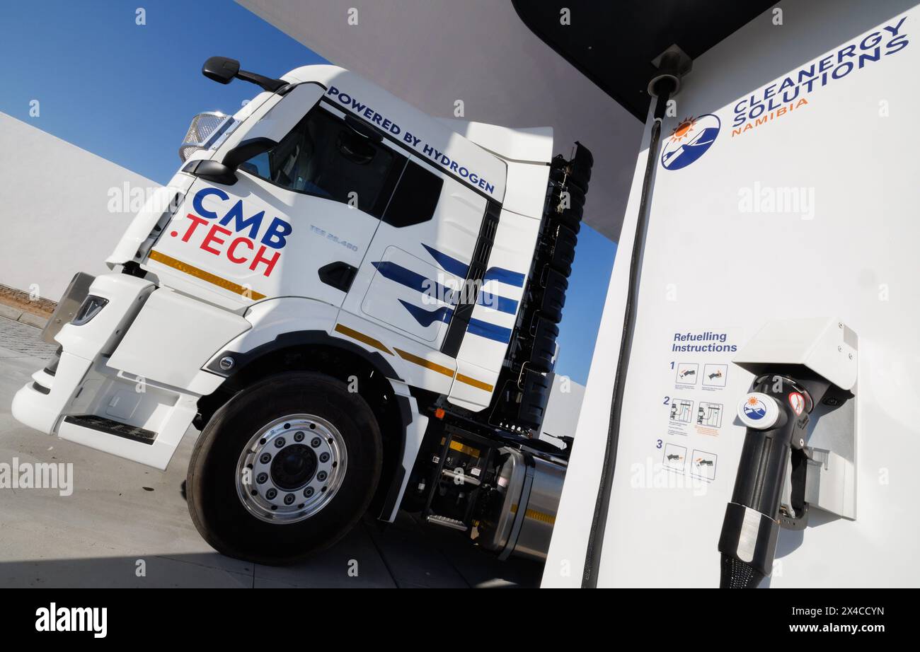
<path id="1" fill-rule="evenodd" d="M 345 383 L 271 376 L 201 431 L 187 481 L 191 520 L 218 552 L 289 564 L 336 543 L 367 509 L 383 458 L 374 412 Z"/>

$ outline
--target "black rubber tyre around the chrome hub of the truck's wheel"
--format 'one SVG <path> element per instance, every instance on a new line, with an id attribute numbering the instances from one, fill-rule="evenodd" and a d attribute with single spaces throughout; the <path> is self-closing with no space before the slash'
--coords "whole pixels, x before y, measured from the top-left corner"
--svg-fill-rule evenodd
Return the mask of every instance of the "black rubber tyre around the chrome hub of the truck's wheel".
<path id="1" fill-rule="evenodd" d="M 274 419 L 304 413 L 339 430 L 347 450 L 341 485 L 328 504 L 298 522 L 259 520 L 236 493 L 236 464 L 249 440 Z M 252 385 L 201 431 L 187 479 L 191 520 L 222 555 L 283 565 L 339 541 L 361 519 L 380 480 L 383 444 L 371 407 L 345 383 L 320 373 L 288 372 Z"/>

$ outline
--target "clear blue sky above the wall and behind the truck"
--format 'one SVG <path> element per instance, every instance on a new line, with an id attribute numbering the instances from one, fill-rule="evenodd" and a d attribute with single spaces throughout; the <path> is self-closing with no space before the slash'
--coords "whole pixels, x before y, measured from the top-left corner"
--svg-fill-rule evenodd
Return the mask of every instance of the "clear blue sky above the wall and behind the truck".
<path id="1" fill-rule="evenodd" d="M 143 26 L 135 23 L 138 6 L 146 11 Z M 233 113 L 256 93 L 201 76 L 201 63 L 214 54 L 269 76 L 325 62 L 231 0 L 2 2 L 0 111 L 166 183 L 191 117 Z M 29 116 L 33 99 L 39 117 Z M 578 383 L 587 381 L 615 248 L 582 225 L 557 367 Z"/>

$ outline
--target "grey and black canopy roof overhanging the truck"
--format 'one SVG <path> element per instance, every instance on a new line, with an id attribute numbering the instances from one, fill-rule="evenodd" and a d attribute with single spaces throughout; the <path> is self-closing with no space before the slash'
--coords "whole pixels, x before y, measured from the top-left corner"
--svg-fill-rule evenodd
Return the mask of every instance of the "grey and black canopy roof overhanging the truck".
<path id="1" fill-rule="evenodd" d="M 581 141 L 594 154 L 585 222 L 614 240 L 639 154 L 651 60 L 673 43 L 696 57 L 769 6 L 761 0 L 237 2 L 432 116 L 552 127 L 560 154 Z M 569 8 L 568 25 L 560 4 Z M 258 72 L 282 74 L 301 63 Z M 458 100 L 462 116 L 455 115 Z"/>

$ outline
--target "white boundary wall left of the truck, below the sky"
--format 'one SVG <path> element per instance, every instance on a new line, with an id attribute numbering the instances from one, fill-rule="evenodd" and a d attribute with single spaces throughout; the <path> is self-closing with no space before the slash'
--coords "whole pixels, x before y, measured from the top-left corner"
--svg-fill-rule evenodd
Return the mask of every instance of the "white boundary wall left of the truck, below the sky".
<path id="1" fill-rule="evenodd" d="M 157 187 L 5 113 L 0 152 L 0 283 L 52 301 L 75 272 L 107 270 L 103 261 L 133 213 L 110 212 L 109 192 L 121 197 L 126 182 L 135 191 Z"/>

